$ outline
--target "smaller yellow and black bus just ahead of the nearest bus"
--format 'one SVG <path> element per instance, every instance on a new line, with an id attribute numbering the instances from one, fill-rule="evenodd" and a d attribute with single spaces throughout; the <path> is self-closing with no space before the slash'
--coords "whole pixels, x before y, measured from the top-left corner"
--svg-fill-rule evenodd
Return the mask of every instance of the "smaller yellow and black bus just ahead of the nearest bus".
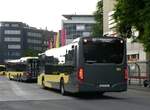
<path id="1" fill-rule="evenodd" d="M 39 72 L 38 57 L 22 57 L 16 60 L 8 60 L 6 61 L 6 71 L 10 80 L 37 80 Z"/>

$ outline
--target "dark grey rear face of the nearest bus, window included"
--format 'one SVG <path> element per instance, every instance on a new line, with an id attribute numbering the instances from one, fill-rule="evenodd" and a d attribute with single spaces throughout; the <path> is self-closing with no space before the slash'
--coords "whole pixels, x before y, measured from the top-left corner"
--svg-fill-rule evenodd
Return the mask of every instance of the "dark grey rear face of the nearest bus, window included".
<path id="1" fill-rule="evenodd" d="M 113 87 L 125 81 L 125 45 L 120 39 L 83 43 L 83 66 L 78 76 L 88 85 Z"/>

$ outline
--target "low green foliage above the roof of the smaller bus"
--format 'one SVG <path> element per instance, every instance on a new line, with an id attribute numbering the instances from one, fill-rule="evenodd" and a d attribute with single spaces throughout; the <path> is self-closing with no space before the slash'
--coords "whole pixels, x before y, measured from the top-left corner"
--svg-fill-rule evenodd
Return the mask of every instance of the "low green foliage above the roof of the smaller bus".
<path id="1" fill-rule="evenodd" d="M 40 53 L 40 51 L 38 50 L 33 50 L 33 49 L 26 49 L 23 52 L 23 57 L 27 57 L 27 56 L 31 56 L 31 57 L 36 57 L 38 56 L 38 53 Z"/>

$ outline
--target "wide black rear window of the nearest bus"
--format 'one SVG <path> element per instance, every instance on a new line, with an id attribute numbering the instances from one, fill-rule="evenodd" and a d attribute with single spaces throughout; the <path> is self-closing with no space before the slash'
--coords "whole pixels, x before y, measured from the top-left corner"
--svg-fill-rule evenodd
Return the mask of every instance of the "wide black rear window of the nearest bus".
<path id="1" fill-rule="evenodd" d="M 83 42 L 85 63 L 120 64 L 124 57 L 124 41 L 120 39 L 99 39 Z"/>

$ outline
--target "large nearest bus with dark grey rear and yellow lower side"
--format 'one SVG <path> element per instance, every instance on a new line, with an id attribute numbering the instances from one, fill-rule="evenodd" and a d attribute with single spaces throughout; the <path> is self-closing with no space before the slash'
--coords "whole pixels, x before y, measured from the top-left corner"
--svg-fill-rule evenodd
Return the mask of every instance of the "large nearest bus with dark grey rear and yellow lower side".
<path id="1" fill-rule="evenodd" d="M 38 85 L 66 92 L 127 90 L 126 42 L 114 37 L 81 37 L 45 51 L 40 57 Z"/>

